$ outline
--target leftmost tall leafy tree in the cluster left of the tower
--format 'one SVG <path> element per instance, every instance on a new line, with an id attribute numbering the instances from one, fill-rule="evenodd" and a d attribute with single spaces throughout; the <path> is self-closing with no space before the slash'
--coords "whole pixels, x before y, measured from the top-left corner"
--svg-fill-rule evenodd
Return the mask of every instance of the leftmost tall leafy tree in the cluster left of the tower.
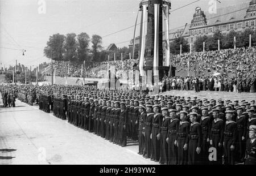
<path id="1" fill-rule="evenodd" d="M 55 61 L 63 60 L 63 45 L 65 41 L 65 36 L 60 35 L 59 33 L 54 34 L 49 37 L 47 41 L 47 46 L 44 48 L 44 55 L 47 58 L 51 58 Z"/>

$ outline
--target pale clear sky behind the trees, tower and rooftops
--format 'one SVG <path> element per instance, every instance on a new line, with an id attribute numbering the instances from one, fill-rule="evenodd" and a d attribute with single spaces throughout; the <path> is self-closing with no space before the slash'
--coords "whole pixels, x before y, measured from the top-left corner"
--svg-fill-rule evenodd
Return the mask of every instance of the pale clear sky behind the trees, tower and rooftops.
<path id="1" fill-rule="evenodd" d="M 208 11 L 212 1 L 216 2 L 172 0 L 170 30 L 191 23 L 195 8 Z M 221 3 L 216 2 L 216 12 L 218 8 L 250 2 L 219 1 Z M 117 47 L 128 46 L 134 33 L 134 28 L 129 27 L 135 24 L 139 2 L 141 0 L 0 0 L 0 67 L 15 65 L 15 60 L 32 68 L 49 62 L 50 59 L 44 57 L 43 49 L 49 36 L 55 33 L 79 35 L 86 32 L 90 37 L 100 35 L 104 48 L 111 43 L 117 44 Z M 179 7 L 182 8 L 177 9 Z M 141 12 L 138 23 L 140 15 Z M 129 29 L 117 32 L 125 28 Z M 139 35 L 139 28 L 136 35 Z M 22 50 L 26 50 L 24 55 Z"/>

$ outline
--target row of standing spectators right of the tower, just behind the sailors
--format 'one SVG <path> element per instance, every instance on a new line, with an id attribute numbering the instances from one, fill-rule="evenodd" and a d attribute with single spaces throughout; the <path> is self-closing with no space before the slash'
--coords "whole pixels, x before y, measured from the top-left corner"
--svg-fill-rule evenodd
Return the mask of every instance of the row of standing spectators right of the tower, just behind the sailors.
<path id="1" fill-rule="evenodd" d="M 175 76 L 162 80 L 163 91 L 170 90 L 195 90 L 199 91 L 226 91 L 226 92 L 256 92 L 255 75 L 240 75 L 230 77 L 228 75 L 187 76 L 185 78 Z"/>

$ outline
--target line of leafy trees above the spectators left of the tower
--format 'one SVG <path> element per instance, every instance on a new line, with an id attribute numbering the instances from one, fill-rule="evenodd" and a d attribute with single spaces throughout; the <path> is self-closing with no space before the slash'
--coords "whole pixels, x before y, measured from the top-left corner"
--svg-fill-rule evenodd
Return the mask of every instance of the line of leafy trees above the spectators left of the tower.
<path id="1" fill-rule="evenodd" d="M 47 58 L 52 58 L 54 61 L 70 61 L 70 62 L 93 62 L 110 61 L 129 58 L 131 49 L 127 47 L 118 48 L 115 51 L 105 51 L 102 47 L 102 37 L 93 35 L 90 37 L 87 33 L 82 32 L 79 35 L 68 33 L 61 35 L 59 33 L 49 37 L 47 46 L 44 48 L 44 55 Z"/>

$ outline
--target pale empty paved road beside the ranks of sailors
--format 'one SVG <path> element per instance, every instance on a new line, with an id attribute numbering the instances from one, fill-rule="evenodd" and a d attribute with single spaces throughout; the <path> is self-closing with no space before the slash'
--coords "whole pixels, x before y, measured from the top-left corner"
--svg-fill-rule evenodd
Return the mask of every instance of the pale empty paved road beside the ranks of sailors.
<path id="1" fill-rule="evenodd" d="M 0 164 L 158 164 L 137 154 L 137 144 L 120 147 L 38 106 L 0 106 Z"/>

